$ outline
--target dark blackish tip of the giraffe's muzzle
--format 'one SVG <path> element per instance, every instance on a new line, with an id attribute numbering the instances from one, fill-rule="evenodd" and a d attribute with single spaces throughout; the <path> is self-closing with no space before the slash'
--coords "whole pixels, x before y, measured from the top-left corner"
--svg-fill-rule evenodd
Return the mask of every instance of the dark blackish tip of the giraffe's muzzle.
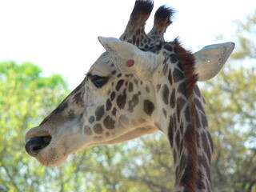
<path id="1" fill-rule="evenodd" d="M 50 144 L 51 136 L 30 138 L 26 141 L 26 152 L 32 157 L 37 157 L 38 153 Z"/>

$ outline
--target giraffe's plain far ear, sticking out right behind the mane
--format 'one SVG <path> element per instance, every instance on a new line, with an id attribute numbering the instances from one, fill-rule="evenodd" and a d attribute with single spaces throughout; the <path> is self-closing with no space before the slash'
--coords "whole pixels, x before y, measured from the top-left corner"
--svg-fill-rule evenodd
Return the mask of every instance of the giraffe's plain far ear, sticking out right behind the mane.
<path id="1" fill-rule="evenodd" d="M 224 66 L 233 50 L 234 42 L 225 42 L 205 46 L 202 50 L 194 53 L 198 81 L 204 82 L 214 78 L 222 70 L 222 66 Z"/>

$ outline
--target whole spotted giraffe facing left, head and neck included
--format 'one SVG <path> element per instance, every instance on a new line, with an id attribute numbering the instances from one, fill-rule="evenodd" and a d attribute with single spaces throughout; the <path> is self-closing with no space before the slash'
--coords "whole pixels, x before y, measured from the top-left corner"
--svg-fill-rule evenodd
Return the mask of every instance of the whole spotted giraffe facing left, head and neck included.
<path id="1" fill-rule="evenodd" d="M 166 42 L 163 35 L 174 14 L 166 6 L 158 8 L 146 34 L 153 4 L 135 2 L 120 38 L 98 37 L 106 52 L 82 83 L 26 133 L 26 151 L 45 166 L 58 166 L 86 147 L 162 131 L 174 156 L 174 191 L 212 191 L 214 146 L 197 82 L 218 74 L 234 43 L 192 54 L 178 38 Z"/>

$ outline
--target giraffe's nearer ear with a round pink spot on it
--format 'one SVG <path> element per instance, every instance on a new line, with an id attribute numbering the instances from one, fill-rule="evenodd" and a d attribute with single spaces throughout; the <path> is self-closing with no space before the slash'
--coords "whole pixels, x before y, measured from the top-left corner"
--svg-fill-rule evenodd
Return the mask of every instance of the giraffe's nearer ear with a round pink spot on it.
<path id="1" fill-rule="evenodd" d="M 98 37 L 98 41 L 122 74 L 135 74 L 141 80 L 152 77 L 158 63 L 157 54 L 142 51 L 137 46 L 118 38 Z"/>

